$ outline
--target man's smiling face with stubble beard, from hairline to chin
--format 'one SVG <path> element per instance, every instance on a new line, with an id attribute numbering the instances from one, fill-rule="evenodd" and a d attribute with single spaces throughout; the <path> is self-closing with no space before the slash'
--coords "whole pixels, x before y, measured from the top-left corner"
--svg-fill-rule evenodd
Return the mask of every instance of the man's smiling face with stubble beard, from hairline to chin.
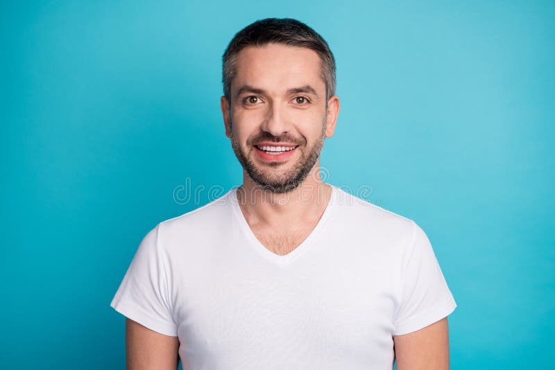
<path id="1" fill-rule="evenodd" d="M 273 193 L 302 184 L 334 130 L 326 125 L 318 54 L 281 44 L 248 46 L 237 55 L 230 105 L 224 100 L 226 135 L 249 177 Z"/>

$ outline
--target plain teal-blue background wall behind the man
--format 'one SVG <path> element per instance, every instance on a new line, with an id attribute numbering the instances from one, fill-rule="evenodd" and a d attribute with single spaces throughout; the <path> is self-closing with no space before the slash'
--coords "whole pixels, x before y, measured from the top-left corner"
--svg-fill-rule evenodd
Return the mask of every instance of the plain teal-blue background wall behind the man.
<path id="1" fill-rule="evenodd" d="M 241 184 L 221 55 L 264 17 L 329 42 L 325 176 L 427 232 L 452 369 L 553 366 L 554 5 L 3 1 L 1 367 L 123 369 L 109 303 L 140 240 Z"/>

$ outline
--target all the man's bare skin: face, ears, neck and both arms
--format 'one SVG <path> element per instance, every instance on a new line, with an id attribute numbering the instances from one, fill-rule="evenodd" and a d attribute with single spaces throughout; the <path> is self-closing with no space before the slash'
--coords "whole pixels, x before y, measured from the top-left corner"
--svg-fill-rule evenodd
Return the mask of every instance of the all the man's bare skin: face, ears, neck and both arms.
<path id="1" fill-rule="evenodd" d="M 320 71 L 318 54 L 304 48 L 249 46 L 237 56 L 230 100 L 221 97 L 225 135 L 238 158 L 248 161 L 259 179 L 286 183 L 309 163 L 324 138 L 333 136 L 339 98 L 326 99 Z M 262 138 L 294 143 L 298 148 L 284 161 L 263 160 L 254 148 Z M 237 191 L 241 211 L 271 252 L 291 252 L 318 223 L 331 196 L 331 187 L 319 174 L 317 159 L 298 187 L 275 193 L 260 188 L 243 171 L 243 184 Z M 447 317 L 393 340 L 398 370 L 449 369 Z M 126 349 L 127 369 L 178 367 L 178 337 L 156 333 L 130 319 L 126 321 Z"/>

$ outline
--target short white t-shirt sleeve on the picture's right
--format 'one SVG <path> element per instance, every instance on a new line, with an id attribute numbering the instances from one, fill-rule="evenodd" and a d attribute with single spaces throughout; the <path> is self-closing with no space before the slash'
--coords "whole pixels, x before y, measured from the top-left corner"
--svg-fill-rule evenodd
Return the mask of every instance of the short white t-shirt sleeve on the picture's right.
<path id="1" fill-rule="evenodd" d="M 402 258 L 401 301 L 393 335 L 418 331 L 456 308 L 432 245 L 418 224 L 412 223 L 411 247 Z"/>

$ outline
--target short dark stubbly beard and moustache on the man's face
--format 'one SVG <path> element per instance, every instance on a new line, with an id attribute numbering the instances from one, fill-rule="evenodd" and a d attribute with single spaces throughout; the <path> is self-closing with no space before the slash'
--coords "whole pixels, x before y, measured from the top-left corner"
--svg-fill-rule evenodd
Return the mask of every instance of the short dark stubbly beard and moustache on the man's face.
<path id="1" fill-rule="evenodd" d="M 250 148 L 252 148 L 250 153 L 247 153 L 243 150 L 243 148 L 241 148 L 239 141 L 237 141 L 232 134 L 230 138 L 231 146 L 233 148 L 233 152 L 235 153 L 235 157 L 237 157 L 239 163 L 241 163 L 241 166 L 243 166 L 243 169 L 249 177 L 253 179 L 255 184 L 261 186 L 263 190 L 270 191 L 271 193 L 289 193 L 290 191 L 298 188 L 298 186 L 305 181 L 312 168 L 314 168 L 316 161 L 318 161 L 324 146 L 326 123 L 327 117 L 322 123 L 322 134 L 314 143 L 312 148 L 310 148 L 308 152 L 302 152 L 302 157 L 293 166 L 293 168 L 278 174 L 266 173 L 262 168 L 259 168 L 259 166 L 255 164 L 255 161 L 253 161 L 252 158 L 252 152 L 255 150 L 252 143 L 258 143 L 260 141 L 272 141 L 273 143 L 287 142 L 296 143 L 296 145 L 298 145 L 297 148 L 301 148 L 306 146 L 306 139 L 299 140 L 288 134 L 273 136 L 269 132 L 262 132 L 247 141 L 247 144 Z M 249 156 L 249 154 L 251 154 L 251 156 Z M 270 162 L 267 166 L 270 168 L 277 168 L 281 165 L 282 162 L 275 161 Z"/>

